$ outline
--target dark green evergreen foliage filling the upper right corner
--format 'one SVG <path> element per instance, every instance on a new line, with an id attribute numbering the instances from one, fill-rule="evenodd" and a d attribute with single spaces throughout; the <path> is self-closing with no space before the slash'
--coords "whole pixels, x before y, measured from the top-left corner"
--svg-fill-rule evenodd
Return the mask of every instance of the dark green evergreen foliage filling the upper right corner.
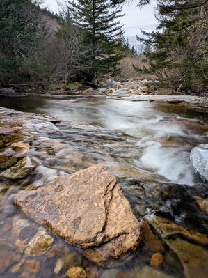
<path id="1" fill-rule="evenodd" d="M 194 2 L 194 3 L 193 3 Z M 161 82 L 179 91 L 207 89 L 207 4 L 193 8 L 195 1 L 163 0 L 157 4 L 157 31 L 138 38 L 149 47 L 149 67 Z M 191 8 L 189 8 L 191 7 Z"/>

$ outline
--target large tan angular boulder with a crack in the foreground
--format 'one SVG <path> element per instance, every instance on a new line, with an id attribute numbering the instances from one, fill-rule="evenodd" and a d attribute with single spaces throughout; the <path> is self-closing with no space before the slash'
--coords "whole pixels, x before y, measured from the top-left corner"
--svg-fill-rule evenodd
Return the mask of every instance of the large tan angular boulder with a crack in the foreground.
<path id="1" fill-rule="evenodd" d="M 141 240 L 129 201 L 116 178 L 102 166 L 20 192 L 15 203 L 97 263 L 136 250 Z"/>

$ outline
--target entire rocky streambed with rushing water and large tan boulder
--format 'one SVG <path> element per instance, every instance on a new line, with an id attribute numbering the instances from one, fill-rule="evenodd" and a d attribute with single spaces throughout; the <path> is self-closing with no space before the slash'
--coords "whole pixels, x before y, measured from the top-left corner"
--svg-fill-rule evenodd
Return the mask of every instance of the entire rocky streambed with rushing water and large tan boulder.
<path id="1" fill-rule="evenodd" d="M 207 277 L 199 103 L 1 98 L 0 277 Z"/>

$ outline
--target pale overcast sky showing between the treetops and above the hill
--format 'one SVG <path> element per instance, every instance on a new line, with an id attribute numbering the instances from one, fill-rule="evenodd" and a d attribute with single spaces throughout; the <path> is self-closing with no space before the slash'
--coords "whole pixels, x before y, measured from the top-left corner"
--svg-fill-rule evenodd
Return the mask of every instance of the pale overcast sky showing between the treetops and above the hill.
<path id="1" fill-rule="evenodd" d="M 65 0 L 59 1 L 65 3 Z M 125 4 L 123 7 L 125 16 L 120 19 L 120 22 L 124 24 L 125 35 L 129 38 L 131 44 L 136 43 L 136 34 L 140 35 L 140 29 L 152 31 L 157 26 L 157 20 L 154 17 L 154 5 L 155 0 L 152 0 L 151 5 L 141 9 L 136 7 L 135 1 Z M 58 12 L 56 0 L 45 0 L 45 6 L 50 10 Z"/>

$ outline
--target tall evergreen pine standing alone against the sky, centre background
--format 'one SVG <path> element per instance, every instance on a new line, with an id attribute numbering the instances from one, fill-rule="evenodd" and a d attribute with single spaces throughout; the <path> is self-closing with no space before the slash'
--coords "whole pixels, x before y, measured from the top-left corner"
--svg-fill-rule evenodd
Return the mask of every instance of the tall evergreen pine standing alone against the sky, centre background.
<path id="1" fill-rule="evenodd" d="M 78 0 L 68 2 L 72 21 L 84 32 L 86 45 L 91 45 L 93 55 L 89 60 L 91 73 L 115 69 L 121 54 L 118 53 L 122 26 L 118 19 L 121 9 L 112 10 L 109 0 Z"/>

